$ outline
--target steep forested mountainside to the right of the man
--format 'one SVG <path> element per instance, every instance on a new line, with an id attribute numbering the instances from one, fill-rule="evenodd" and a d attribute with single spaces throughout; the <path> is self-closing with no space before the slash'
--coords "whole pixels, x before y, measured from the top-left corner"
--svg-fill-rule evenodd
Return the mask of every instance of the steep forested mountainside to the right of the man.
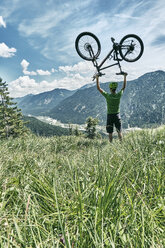
<path id="1" fill-rule="evenodd" d="M 128 83 L 122 98 L 125 124 L 150 126 L 165 123 L 165 72 L 146 73 Z"/>

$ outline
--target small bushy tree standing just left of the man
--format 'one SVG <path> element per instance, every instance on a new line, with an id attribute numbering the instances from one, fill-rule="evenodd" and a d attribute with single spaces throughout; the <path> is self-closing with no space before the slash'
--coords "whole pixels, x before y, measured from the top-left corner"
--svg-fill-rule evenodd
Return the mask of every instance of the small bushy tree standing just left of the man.
<path id="1" fill-rule="evenodd" d="M 96 125 L 98 124 L 98 119 L 88 117 L 86 120 L 86 133 L 87 137 L 90 139 L 94 139 L 96 137 Z"/>

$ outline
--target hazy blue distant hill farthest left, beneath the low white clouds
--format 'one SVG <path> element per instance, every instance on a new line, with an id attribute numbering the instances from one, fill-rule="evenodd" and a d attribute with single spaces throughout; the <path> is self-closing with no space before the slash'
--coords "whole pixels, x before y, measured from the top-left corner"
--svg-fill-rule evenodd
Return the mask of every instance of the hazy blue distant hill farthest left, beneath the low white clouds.
<path id="1" fill-rule="evenodd" d="M 47 111 L 74 94 L 74 92 L 66 89 L 54 89 L 37 95 L 30 94 L 15 98 L 14 100 L 24 115 L 46 115 Z"/>

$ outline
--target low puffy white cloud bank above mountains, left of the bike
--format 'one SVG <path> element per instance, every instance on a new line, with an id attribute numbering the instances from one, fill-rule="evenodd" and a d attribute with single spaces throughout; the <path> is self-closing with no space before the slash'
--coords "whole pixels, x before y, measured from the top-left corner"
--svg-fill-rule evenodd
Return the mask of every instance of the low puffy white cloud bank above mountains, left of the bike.
<path id="1" fill-rule="evenodd" d="M 27 70 L 29 62 L 23 60 L 21 65 L 24 70 Z M 53 90 L 55 88 L 74 90 L 82 87 L 87 83 L 91 83 L 92 81 L 93 73 L 91 70 L 89 70 L 88 65 L 84 62 L 80 62 L 78 65 L 74 65 L 70 68 L 62 67 L 62 69 L 64 72 L 67 72 L 68 70 L 66 76 L 60 79 L 54 79 L 51 82 L 46 80 L 37 82 L 35 79 L 31 79 L 29 76 L 19 77 L 18 79 L 9 83 L 9 92 L 11 92 L 11 96 L 20 97 L 27 94 L 38 94 L 41 92 Z M 42 71 L 42 73 L 43 72 L 44 71 Z"/>

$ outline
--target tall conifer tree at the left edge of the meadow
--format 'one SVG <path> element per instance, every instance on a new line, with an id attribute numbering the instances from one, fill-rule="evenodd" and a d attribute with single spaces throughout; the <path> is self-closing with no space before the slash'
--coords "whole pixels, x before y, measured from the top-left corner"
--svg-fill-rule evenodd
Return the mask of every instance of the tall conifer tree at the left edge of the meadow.
<path id="1" fill-rule="evenodd" d="M 26 131 L 21 110 L 12 100 L 6 82 L 0 78 L 0 138 L 18 137 Z"/>

